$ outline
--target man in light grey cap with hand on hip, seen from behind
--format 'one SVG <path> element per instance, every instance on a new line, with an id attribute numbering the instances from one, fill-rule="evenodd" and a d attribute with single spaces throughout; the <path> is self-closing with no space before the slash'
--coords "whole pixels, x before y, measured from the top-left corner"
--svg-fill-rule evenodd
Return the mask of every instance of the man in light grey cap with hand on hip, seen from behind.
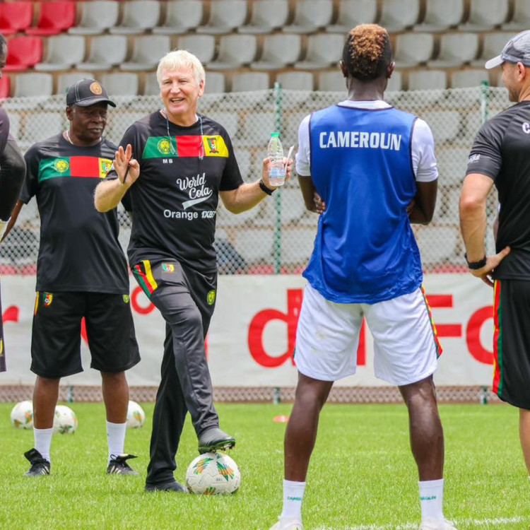
<path id="1" fill-rule="evenodd" d="M 530 476 L 530 31 L 512 37 L 485 64 L 497 66 L 515 105 L 478 131 L 461 192 L 460 225 L 471 273 L 494 288 L 493 391 L 519 408 Z M 497 254 L 486 256 L 485 205 L 494 184 L 500 203 Z"/>

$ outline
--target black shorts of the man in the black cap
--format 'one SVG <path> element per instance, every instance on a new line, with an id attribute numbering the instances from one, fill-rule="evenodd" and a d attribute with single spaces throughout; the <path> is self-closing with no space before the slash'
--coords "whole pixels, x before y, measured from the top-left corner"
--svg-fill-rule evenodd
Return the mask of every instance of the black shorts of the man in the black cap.
<path id="1" fill-rule="evenodd" d="M 83 371 L 81 319 L 90 367 L 122 372 L 140 360 L 129 295 L 38 292 L 31 336 L 31 371 L 56 379 Z"/>

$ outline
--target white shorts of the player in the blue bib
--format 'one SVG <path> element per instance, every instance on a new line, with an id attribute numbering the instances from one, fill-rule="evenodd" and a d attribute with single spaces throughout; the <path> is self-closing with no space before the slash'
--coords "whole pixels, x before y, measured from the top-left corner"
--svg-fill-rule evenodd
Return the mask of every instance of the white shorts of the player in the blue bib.
<path id="1" fill-rule="evenodd" d="M 298 370 L 321 381 L 355 374 L 363 316 L 374 338 L 379 379 L 401 386 L 435 372 L 442 348 L 421 288 L 376 304 L 337 304 L 309 284 L 296 332 Z"/>

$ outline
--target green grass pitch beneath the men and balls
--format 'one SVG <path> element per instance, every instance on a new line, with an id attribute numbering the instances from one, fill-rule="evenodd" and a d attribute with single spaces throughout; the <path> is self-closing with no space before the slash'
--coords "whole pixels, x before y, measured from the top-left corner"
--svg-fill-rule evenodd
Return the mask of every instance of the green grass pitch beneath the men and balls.
<path id="1" fill-rule="evenodd" d="M 269 529 L 281 511 L 283 433 L 291 405 L 219 404 L 221 426 L 235 435 L 230 452 L 242 472 L 228 497 L 144 493 L 153 404 L 143 428 L 128 430 L 126 451 L 140 477 L 107 476 L 102 404 L 71 404 L 79 427 L 54 435 L 52 475 L 23 477 L 31 430 L 9 422 L 0 404 L 2 529 Z M 526 530 L 530 483 L 518 438 L 517 410 L 505 405 L 442 405 L 446 517 L 459 529 Z M 178 481 L 197 455 L 187 422 L 177 457 Z M 420 520 L 416 466 L 402 405 L 324 408 L 303 507 L 306 529 L 413 529 Z"/>

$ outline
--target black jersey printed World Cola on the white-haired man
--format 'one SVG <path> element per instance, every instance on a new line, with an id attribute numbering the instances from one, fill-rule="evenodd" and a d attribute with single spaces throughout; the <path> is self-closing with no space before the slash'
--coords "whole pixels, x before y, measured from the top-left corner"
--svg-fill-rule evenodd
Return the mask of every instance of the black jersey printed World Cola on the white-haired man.
<path id="1" fill-rule="evenodd" d="M 140 177 L 127 193 L 131 266 L 177 259 L 202 273 L 216 271 L 218 194 L 243 182 L 228 133 L 206 116 L 183 127 L 157 111 L 129 127 L 120 145 L 129 143 L 140 163 Z"/>

